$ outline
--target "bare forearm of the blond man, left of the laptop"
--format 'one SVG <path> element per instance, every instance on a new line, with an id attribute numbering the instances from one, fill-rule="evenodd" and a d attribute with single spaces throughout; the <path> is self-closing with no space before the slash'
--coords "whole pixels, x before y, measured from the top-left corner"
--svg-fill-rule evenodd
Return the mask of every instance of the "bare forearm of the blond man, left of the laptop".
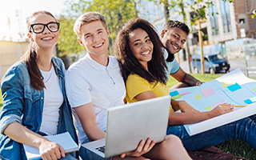
<path id="1" fill-rule="evenodd" d="M 74 110 L 78 114 L 82 128 L 90 140 L 94 141 L 106 137 L 106 133 L 98 128 L 96 124 L 94 106 L 91 102 L 75 107 Z"/>

